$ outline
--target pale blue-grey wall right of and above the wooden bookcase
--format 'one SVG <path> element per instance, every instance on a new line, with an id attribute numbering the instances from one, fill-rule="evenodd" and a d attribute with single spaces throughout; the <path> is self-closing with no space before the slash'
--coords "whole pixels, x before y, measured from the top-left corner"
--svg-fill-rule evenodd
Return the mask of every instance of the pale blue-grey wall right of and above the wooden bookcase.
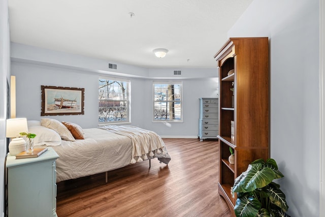
<path id="1" fill-rule="evenodd" d="M 318 0 L 255 0 L 229 37 L 269 37 L 271 158 L 291 216 L 319 213 Z"/>

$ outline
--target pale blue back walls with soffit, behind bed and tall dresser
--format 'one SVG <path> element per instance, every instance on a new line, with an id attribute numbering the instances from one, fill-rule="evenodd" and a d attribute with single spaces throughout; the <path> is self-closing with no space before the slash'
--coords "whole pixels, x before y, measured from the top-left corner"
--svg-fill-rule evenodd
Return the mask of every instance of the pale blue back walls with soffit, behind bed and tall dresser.
<path id="1" fill-rule="evenodd" d="M 125 74 L 122 72 L 117 74 L 101 68 L 104 66 L 104 60 L 88 59 L 84 56 L 16 43 L 12 43 L 11 56 L 11 74 L 16 76 L 17 116 L 24 116 L 29 120 L 39 120 L 44 117 L 41 116 L 41 85 L 78 87 L 85 88 L 84 115 L 45 117 L 75 122 L 83 128 L 97 127 L 98 78 L 100 75 L 111 74 L 117 78 L 126 76 L 131 79 L 132 125 L 155 131 L 162 137 L 196 138 L 198 136 L 199 98 L 216 97 L 217 94 L 217 69 L 182 70 L 185 75 L 175 77 L 175 79 L 183 82 L 183 122 L 172 123 L 167 127 L 164 123 L 152 122 L 152 82 L 158 79 L 174 79 L 171 77 L 172 69 L 148 70 L 135 67 L 133 70 L 132 66 L 124 66 L 124 69 L 127 69 Z M 144 77 L 143 75 L 148 72 L 150 76 Z M 154 75 L 160 77 L 156 78 Z"/>

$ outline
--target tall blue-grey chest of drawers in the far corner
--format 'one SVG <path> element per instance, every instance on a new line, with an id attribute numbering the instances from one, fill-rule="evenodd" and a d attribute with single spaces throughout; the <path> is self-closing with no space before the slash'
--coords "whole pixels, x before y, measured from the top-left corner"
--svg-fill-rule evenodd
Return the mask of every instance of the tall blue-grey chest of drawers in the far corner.
<path id="1" fill-rule="evenodd" d="M 199 138 L 216 139 L 219 130 L 218 98 L 200 98 Z"/>

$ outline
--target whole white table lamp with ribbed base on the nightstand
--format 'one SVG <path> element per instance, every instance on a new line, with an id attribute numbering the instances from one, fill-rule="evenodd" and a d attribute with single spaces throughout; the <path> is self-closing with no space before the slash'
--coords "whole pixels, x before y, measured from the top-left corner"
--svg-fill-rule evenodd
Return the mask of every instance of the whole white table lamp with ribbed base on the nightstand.
<path id="1" fill-rule="evenodd" d="M 17 155 L 26 150 L 26 141 L 20 137 L 19 133 L 28 132 L 26 118 L 12 118 L 6 121 L 6 137 L 14 138 L 9 143 L 10 155 Z"/>

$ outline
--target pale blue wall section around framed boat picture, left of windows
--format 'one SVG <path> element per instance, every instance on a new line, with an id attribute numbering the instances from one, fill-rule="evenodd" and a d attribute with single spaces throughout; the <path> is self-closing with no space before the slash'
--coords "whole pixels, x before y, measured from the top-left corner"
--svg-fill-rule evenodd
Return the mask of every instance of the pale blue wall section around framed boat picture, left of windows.
<path id="1" fill-rule="evenodd" d="M 75 122 L 83 128 L 96 126 L 98 117 L 98 75 L 77 70 L 17 63 L 12 61 L 11 74 L 16 76 L 17 117 L 41 118 L 41 85 L 85 88 L 84 115 L 42 116 Z M 97 96 L 97 98 L 96 98 Z"/>

